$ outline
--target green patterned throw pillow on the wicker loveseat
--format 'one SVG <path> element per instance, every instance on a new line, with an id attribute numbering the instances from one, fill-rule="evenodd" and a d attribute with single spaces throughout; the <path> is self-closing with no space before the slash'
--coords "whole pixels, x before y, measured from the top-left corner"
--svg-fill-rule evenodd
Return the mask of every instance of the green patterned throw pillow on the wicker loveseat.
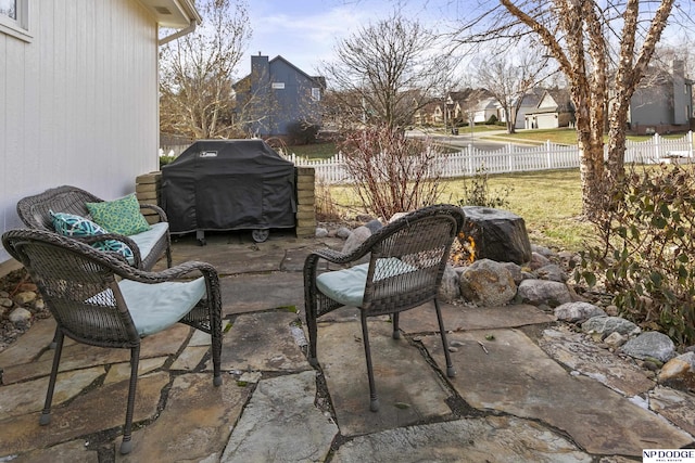
<path id="1" fill-rule="evenodd" d="M 131 235 L 150 230 L 135 193 L 114 201 L 85 203 L 94 222 L 111 233 Z"/>

